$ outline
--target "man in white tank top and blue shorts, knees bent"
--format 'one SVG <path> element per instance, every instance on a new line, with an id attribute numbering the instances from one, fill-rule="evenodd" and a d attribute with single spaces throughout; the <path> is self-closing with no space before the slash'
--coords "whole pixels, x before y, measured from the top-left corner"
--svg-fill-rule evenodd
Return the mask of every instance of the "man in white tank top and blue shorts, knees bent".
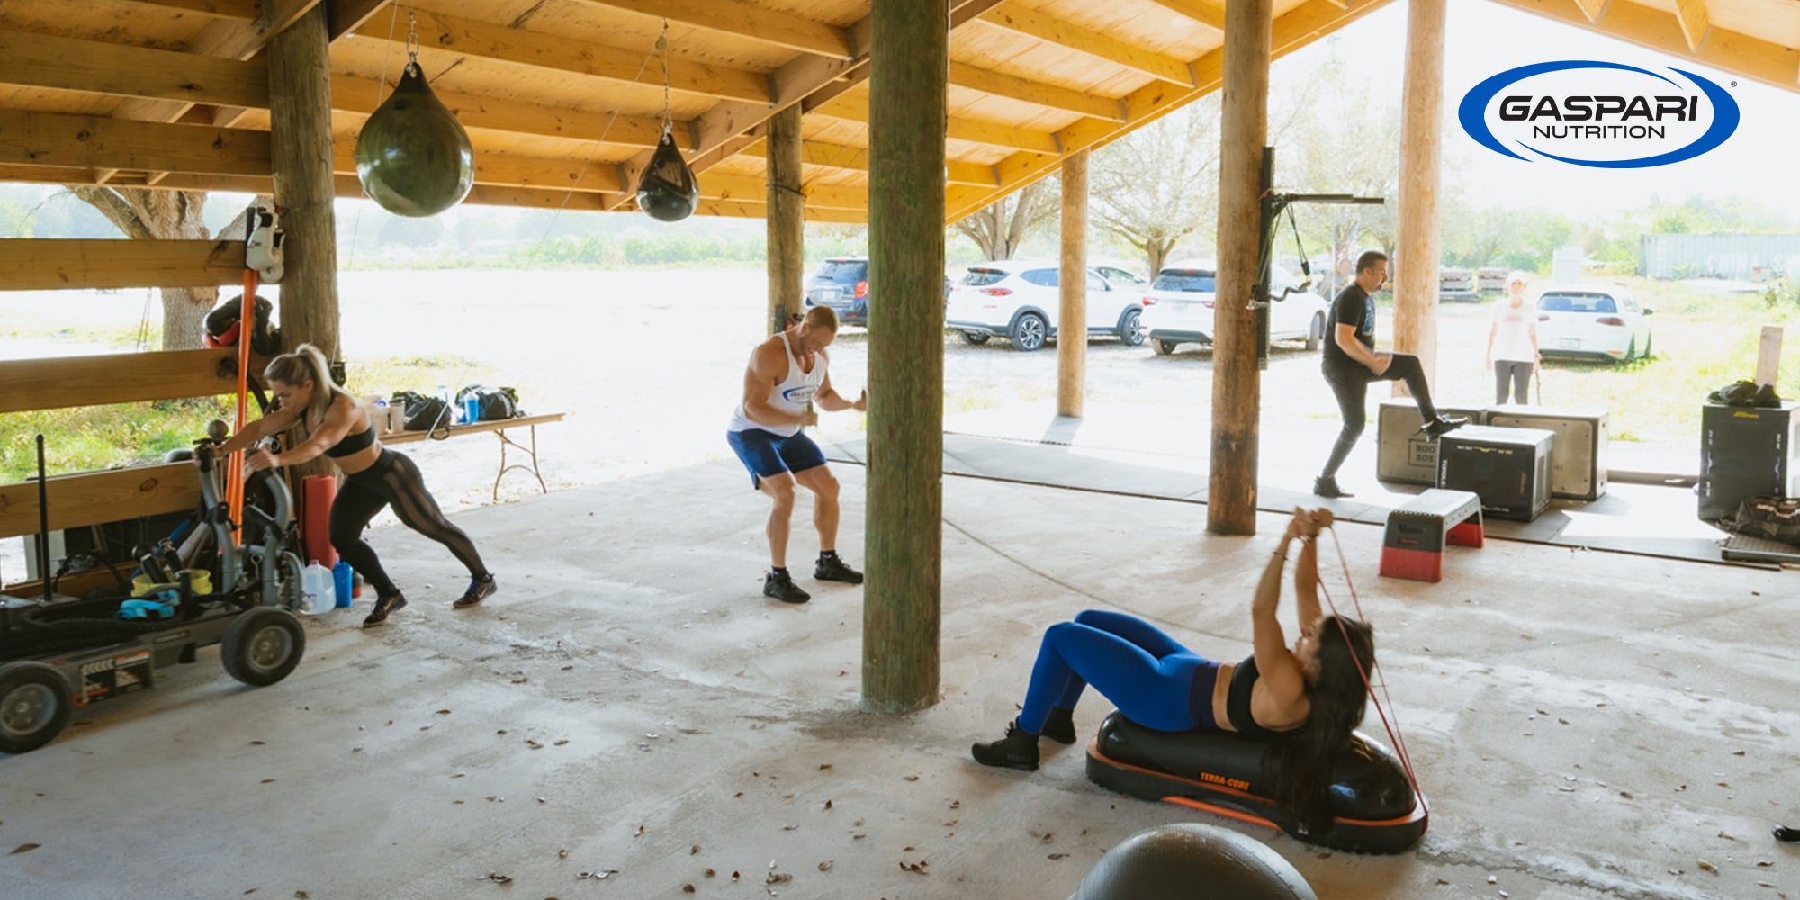
<path id="1" fill-rule="evenodd" d="M 837 338 L 837 313 L 830 306 L 806 310 L 801 324 L 770 337 L 751 353 L 743 371 L 743 403 L 731 416 L 725 439 L 751 470 L 751 486 L 774 500 L 769 511 L 769 565 L 763 596 L 783 603 L 806 603 L 787 571 L 788 518 L 794 515 L 796 486 L 812 491 L 812 524 L 819 529 L 819 563 L 812 576 L 821 581 L 862 583 L 862 572 L 837 556 L 837 477 L 824 464 L 819 445 L 806 436 L 819 423 L 819 409 L 839 412 L 868 409 L 868 392 L 855 401 L 832 391 L 824 347 Z"/>

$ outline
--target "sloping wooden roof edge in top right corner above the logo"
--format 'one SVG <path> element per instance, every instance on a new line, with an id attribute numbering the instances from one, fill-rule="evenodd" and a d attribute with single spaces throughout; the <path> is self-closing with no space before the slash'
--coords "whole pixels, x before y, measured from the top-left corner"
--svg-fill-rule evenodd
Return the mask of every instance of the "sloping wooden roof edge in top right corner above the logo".
<path id="1" fill-rule="evenodd" d="M 1705 63 L 1782 90 L 1795 90 L 1795 85 L 1800 83 L 1796 79 L 1796 72 L 1800 72 L 1800 49 L 1793 43 L 1766 41 L 1739 31 L 1708 25 L 1703 41 L 1699 47 L 1694 47 L 1683 27 L 1676 22 L 1676 16 L 1638 4 L 1613 4 L 1607 7 L 1606 22 L 1595 23 L 1588 18 L 1579 0 L 1494 2 L 1555 22 L 1566 22 L 1595 34 L 1631 41 L 1638 47 L 1661 50 L 1669 56 Z"/>

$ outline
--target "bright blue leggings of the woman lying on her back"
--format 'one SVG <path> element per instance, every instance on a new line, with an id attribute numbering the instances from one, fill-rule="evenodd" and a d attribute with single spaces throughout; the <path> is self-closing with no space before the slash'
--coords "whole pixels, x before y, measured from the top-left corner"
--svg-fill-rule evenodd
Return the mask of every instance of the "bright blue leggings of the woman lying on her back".
<path id="1" fill-rule="evenodd" d="M 1202 666 L 1217 679 L 1217 662 L 1195 655 L 1154 625 L 1123 612 L 1085 610 L 1044 632 L 1019 727 L 1042 734 L 1051 707 L 1075 709 L 1089 684 L 1141 725 L 1157 731 L 1217 727 L 1213 682 Z"/>

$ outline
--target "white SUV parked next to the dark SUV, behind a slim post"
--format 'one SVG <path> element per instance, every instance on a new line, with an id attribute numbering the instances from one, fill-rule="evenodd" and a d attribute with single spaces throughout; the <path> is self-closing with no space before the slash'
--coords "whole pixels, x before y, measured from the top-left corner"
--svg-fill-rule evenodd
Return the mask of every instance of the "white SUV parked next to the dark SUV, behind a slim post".
<path id="1" fill-rule="evenodd" d="M 1062 299 L 1062 265 L 1055 259 L 999 259 L 963 272 L 943 308 L 945 324 L 970 344 L 1001 335 L 1013 347 L 1033 351 L 1057 337 Z M 1087 335 L 1118 335 L 1143 344 L 1138 315 L 1143 293 L 1114 290 L 1105 277 L 1087 270 Z"/>

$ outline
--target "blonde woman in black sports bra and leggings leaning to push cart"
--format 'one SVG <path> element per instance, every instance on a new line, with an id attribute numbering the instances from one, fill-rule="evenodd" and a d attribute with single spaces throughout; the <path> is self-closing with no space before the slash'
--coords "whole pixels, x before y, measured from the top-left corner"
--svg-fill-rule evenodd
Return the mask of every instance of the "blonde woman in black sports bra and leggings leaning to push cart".
<path id="1" fill-rule="evenodd" d="M 274 409 L 245 425 L 220 452 L 243 450 L 299 423 L 306 428 L 304 441 L 279 454 L 254 448 L 245 455 L 245 468 L 256 472 L 292 466 L 320 454 L 337 463 L 344 472 L 344 486 L 331 500 L 331 545 L 374 585 L 374 610 L 362 621 L 364 628 L 382 625 L 391 612 L 407 605 L 407 598 L 382 569 L 374 547 L 362 540 L 369 520 L 389 504 L 401 524 L 443 544 L 468 567 L 468 590 L 454 603 L 455 608 L 473 607 L 493 594 L 493 572 L 481 562 L 475 542 L 445 518 L 437 500 L 425 490 L 419 466 L 376 441 L 374 416 L 331 380 L 324 353 L 302 344 L 293 353 L 275 356 L 263 369 L 263 378 L 274 392 Z"/>

